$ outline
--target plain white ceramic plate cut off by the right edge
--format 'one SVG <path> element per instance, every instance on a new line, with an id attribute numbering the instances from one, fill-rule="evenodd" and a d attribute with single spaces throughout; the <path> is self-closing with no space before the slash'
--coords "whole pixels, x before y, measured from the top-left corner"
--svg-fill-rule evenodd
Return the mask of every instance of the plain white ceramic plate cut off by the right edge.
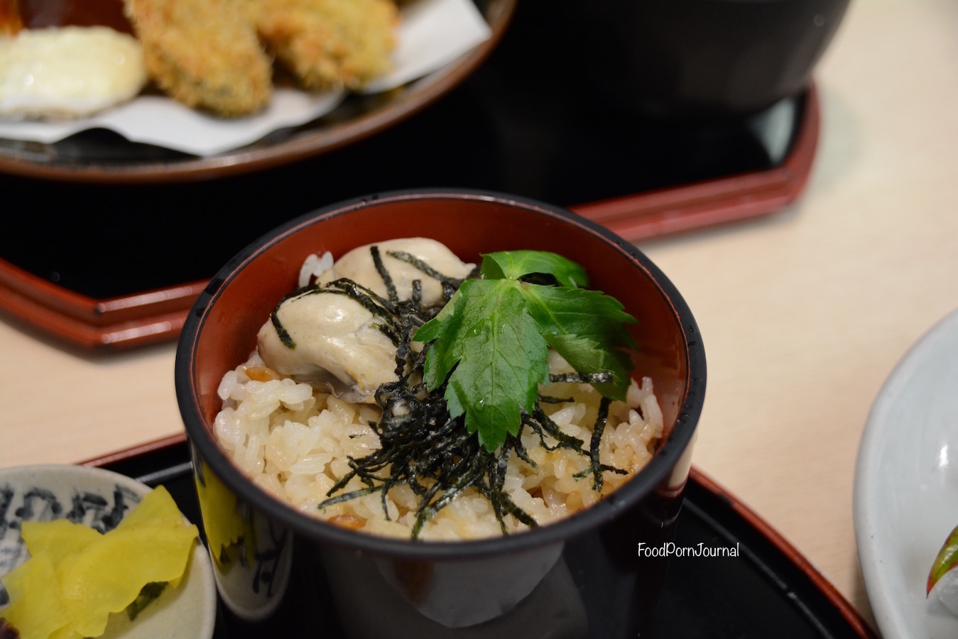
<path id="1" fill-rule="evenodd" d="M 924 584 L 958 525 L 958 311 L 905 354 L 872 405 L 855 469 L 858 558 L 881 633 L 954 639 Z"/>

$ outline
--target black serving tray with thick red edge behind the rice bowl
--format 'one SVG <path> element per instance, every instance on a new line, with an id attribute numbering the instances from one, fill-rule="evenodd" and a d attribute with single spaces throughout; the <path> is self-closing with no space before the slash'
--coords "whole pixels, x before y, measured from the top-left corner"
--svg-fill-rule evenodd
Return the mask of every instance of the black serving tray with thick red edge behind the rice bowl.
<path id="1" fill-rule="evenodd" d="M 819 130 L 813 84 L 753 116 L 650 117 L 629 108 L 625 88 L 595 83 L 581 4 L 518 3 L 490 56 L 441 99 L 282 166 L 112 183 L 0 167 L 0 311 L 94 350 L 175 339 L 208 279 L 248 243 L 335 201 L 395 189 L 532 197 L 629 241 L 767 215 L 802 193 Z M 785 131 L 777 145 L 769 122 Z"/>

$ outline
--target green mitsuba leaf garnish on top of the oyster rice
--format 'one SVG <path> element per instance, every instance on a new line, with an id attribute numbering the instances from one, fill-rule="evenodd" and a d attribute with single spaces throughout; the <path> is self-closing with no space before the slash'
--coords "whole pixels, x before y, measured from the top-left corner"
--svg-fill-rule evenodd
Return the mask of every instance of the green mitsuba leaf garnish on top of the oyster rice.
<path id="1" fill-rule="evenodd" d="M 596 388 L 625 399 L 635 320 L 615 299 L 580 288 L 582 267 L 555 253 L 508 251 L 483 256 L 482 280 L 467 280 L 416 339 L 430 343 L 424 381 L 444 383 L 450 415 L 465 415 L 468 432 L 493 451 L 517 434 L 538 385 L 549 380 L 549 347 L 582 375 L 607 373 Z M 550 275 L 559 285 L 520 278 Z"/>

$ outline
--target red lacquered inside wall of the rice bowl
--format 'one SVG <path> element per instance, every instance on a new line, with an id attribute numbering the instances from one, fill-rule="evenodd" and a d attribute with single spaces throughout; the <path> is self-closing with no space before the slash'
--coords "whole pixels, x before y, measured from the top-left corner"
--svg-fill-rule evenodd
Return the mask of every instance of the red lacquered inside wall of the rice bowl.
<path id="1" fill-rule="evenodd" d="M 689 382 L 685 328 L 650 274 L 654 267 L 629 252 L 626 242 L 610 240 L 578 218 L 527 202 L 462 194 L 405 194 L 346 205 L 300 222 L 240 263 L 226 276 L 196 344 L 194 392 L 207 428 L 212 430 L 220 409 L 220 378 L 255 348 L 257 331 L 295 288 L 309 254 L 331 251 L 335 258 L 362 244 L 416 236 L 443 241 L 469 262 L 478 263 L 486 252 L 539 249 L 581 263 L 589 287 L 616 297 L 638 320 L 632 329 L 639 347 L 633 375 L 652 378 L 667 432 L 672 428 Z"/>

